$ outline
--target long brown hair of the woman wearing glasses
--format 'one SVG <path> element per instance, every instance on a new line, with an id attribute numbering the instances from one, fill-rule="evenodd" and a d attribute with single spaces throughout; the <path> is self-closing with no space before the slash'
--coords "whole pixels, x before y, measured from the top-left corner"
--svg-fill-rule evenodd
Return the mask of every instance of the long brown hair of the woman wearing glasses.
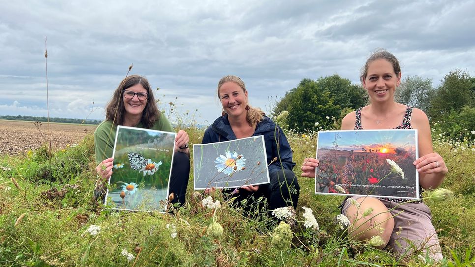
<path id="1" fill-rule="evenodd" d="M 150 83 L 145 77 L 140 75 L 130 75 L 119 83 L 119 86 L 114 91 L 111 101 L 106 106 L 106 120 L 112 121 L 115 125 L 123 125 L 125 120 L 125 106 L 123 99 L 123 91 L 134 85 L 141 84 L 147 90 L 148 98 L 145 108 L 142 111 L 142 126 L 144 128 L 152 128 L 155 121 L 160 117 L 153 91 Z"/>

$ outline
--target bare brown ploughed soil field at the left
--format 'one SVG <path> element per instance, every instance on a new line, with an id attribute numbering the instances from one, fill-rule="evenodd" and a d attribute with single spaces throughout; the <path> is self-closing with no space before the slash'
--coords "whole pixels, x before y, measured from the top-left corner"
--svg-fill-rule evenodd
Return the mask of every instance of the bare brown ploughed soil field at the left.
<path id="1" fill-rule="evenodd" d="M 77 144 L 87 134 L 94 133 L 96 126 L 50 123 L 52 148 L 65 148 Z M 0 155 L 17 155 L 35 150 L 49 140 L 48 124 L 32 121 L 0 119 Z"/>

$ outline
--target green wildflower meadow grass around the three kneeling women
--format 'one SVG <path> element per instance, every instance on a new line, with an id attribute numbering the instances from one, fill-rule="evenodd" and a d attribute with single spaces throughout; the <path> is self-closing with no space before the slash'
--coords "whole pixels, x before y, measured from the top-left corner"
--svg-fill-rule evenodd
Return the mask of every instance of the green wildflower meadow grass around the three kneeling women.
<path id="1" fill-rule="evenodd" d="M 201 143 L 203 129 L 185 130 L 192 144 Z M 316 132 L 286 135 L 299 177 L 303 159 L 315 156 Z M 315 195 L 312 178 L 299 178 L 299 222 L 283 249 L 274 240 L 277 223 L 271 215 L 246 218 L 243 208 L 231 207 L 219 192 L 212 199 L 220 208 L 207 208 L 204 196 L 193 191 L 192 178 L 186 204 L 173 212 L 113 211 L 93 199 L 89 134 L 78 146 L 53 151 L 51 169 L 47 145 L 0 157 L 0 266 L 473 266 L 475 145 L 433 135 L 434 149 L 449 169 L 441 187 L 455 194 L 449 202 L 427 202 L 445 257 L 439 264 L 417 255 L 398 259 L 350 240 L 335 219 L 344 197 Z M 318 230 L 303 226 L 303 206 L 313 210 Z M 224 230 L 208 229 L 213 222 Z"/>

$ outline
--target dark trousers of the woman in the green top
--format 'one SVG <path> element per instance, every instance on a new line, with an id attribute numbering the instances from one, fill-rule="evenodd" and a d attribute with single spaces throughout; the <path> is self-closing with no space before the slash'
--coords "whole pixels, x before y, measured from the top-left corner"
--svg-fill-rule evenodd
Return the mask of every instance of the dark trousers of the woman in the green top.
<path id="1" fill-rule="evenodd" d="M 182 206 L 185 203 L 186 188 L 188 187 L 188 180 L 190 179 L 190 157 L 182 152 L 175 152 L 173 154 L 172 174 L 170 177 L 169 193 L 175 195 L 172 204 L 180 203 Z M 94 197 L 97 201 L 104 202 L 106 191 L 104 187 L 99 186 L 94 190 Z"/>

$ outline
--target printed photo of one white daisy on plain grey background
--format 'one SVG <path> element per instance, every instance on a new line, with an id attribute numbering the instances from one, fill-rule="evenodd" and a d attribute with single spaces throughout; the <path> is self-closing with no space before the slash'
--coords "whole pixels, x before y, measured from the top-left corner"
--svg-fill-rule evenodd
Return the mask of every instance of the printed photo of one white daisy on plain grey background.
<path id="1" fill-rule="evenodd" d="M 194 189 L 270 183 L 262 135 L 193 145 Z"/>

